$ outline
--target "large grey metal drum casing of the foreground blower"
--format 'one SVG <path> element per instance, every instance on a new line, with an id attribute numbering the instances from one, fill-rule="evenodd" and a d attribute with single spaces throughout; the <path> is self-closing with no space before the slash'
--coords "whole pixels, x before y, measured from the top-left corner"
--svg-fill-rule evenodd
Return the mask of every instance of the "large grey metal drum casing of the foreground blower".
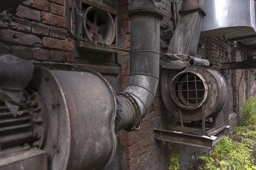
<path id="1" fill-rule="evenodd" d="M 49 170 L 99 170 L 116 151 L 116 99 L 94 71 L 36 67 L 30 82 L 47 108 L 48 138 L 42 148 Z"/>

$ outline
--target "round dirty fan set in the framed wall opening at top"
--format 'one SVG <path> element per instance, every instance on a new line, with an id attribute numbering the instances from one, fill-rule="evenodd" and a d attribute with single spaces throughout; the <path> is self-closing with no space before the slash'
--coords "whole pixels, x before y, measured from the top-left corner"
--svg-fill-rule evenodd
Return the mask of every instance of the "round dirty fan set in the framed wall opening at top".
<path id="1" fill-rule="evenodd" d="M 90 40 L 102 41 L 111 45 L 115 39 L 116 27 L 111 14 L 90 6 L 84 10 L 83 30 Z"/>

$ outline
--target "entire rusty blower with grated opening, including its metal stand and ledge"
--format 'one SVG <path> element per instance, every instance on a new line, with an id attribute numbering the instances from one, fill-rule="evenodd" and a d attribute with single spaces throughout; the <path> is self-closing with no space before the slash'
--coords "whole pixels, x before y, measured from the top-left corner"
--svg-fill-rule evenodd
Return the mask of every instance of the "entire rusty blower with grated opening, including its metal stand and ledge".
<path id="1" fill-rule="evenodd" d="M 228 126 L 223 120 L 227 89 L 224 77 L 212 69 L 189 67 L 175 73 L 162 71 L 163 101 L 179 118 L 180 125 L 173 130 L 155 129 L 155 139 L 211 148 L 227 136 Z"/>

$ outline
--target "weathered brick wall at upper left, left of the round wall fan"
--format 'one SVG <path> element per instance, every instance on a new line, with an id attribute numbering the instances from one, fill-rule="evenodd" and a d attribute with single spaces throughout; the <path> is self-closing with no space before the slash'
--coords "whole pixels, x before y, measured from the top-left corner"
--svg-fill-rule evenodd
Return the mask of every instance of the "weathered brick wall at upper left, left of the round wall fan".
<path id="1" fill-rule="evenodd" d="M 71 6 L 71 4 L 70 4 Z M 27 0 L 17 14 L 46 28 L 65 32 L 64 0 Z M 73 40 L 18 23 L 0 22 L 0 50 L 23 59 L 73 62 Z"/>

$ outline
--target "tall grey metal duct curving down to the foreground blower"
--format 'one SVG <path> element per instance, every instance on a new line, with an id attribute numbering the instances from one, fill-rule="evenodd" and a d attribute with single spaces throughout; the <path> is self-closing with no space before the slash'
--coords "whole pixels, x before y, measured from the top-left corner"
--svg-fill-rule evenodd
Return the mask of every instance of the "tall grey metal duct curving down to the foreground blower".
<path id="1" fill-rule="evenodd" d="M 130 118 L 122 119 L 119 129 L 138 128 L 154 101 L 159 82 L 161 8 L 162 0 L 131 2 L 130 77 L 122 99 L 119 98 L 123 108 L 121 117 Z"/>

